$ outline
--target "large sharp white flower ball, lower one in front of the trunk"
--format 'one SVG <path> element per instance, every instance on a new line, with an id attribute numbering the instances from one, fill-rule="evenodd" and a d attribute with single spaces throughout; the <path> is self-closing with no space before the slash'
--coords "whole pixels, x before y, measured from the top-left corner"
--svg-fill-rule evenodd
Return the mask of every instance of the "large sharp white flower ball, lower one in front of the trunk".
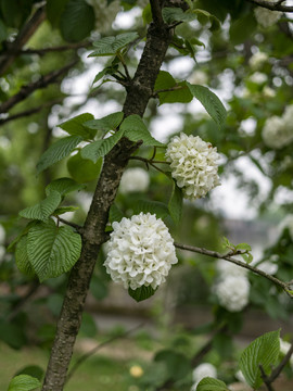
<path id="1" fill-rule="evenodd" d="M 174 240 L 161 218 L 150 213 L 113 223 L 104 262 L 113 281 L 124 288 L 156 289 L 178 262 Z"/>

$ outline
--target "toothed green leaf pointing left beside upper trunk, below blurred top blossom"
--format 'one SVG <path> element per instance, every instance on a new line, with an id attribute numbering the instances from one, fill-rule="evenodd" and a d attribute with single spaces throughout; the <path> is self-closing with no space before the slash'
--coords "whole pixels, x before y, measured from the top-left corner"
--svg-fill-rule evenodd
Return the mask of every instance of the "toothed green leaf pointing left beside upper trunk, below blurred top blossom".
<path id="1" fill-rule="evenodd" d="M 139 35 L 137 33 L 124 33 L 117 35 L 116 37 L 104 37 L 99 41 L 93 42 L 93 46 L 97 49 L 90 53 L 89 56 L 116 54 L 119 50 L 125 48 L 138 37 Z"/>

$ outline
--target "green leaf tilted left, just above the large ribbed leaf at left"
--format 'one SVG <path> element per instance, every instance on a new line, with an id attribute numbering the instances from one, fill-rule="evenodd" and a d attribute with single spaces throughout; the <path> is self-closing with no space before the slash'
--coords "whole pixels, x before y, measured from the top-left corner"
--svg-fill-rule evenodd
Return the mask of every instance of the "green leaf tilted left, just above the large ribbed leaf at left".
<path id="1" fill-rule="evenodd" d="M 26 207 L 20 212 L 20 216 L 46 222 L 54 212 L 61 202 L 61 195 L 58 191 L 50 191 L 48 197 L 37 205 Z"/>

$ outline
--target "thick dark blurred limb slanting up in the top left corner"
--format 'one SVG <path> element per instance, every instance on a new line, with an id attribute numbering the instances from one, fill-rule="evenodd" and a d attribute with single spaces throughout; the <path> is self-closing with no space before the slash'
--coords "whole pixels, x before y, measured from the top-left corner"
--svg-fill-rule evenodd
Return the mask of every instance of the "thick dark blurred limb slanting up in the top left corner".
<path id="1" fill-rule="evenodd" d="M 20 31 L 15 41 L 9 46 L 9 50 L 7 53 L 0 55 L 0 75 L 3 75 L 13 61 L 18 55 L 20 50 L 24 47 L 24 45 L 28 41 L 28 39 L 34 35 L 36 29 L 46 18 L 46 5 L 40 7 L 34 13 L 31 18 L 27 22 L 27 24 Z M 9 43 L 8 43 L 9 45 Z"/>

